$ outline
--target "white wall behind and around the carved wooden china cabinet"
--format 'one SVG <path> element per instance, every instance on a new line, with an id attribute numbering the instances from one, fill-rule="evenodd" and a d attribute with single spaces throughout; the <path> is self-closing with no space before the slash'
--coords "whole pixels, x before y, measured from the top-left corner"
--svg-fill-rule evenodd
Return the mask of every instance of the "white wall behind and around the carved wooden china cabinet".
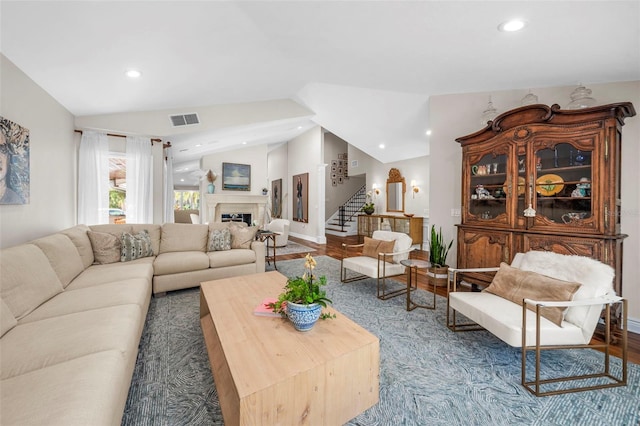
<path id="1" fill-rule="evenodd" d="M 640 82 L 587 84 L 599 104 L 630 101 L 640 111 Z M 575 87 L 534 88 L 539 103 L 566 105 Z M 520 106 L 520 99 L 527 90 L 510 90 L 492 93 L 469 93 L 433 96 L 429 102 L 431 123 L 430 151 L 431 191 L 429 203 L 431 223 L 442 226 L 445 238 L 455 240 L 455 224 L 459 217 L 452 217 L 451 209 L 461 206 L 461 149 L 455 139 L 480 130 L 480 115 L 486 109 L 489 95 L 499 113 Z M 630 329 L 640 332 L 640 117 L 625 121 L 622 128 L 622 232 L 624 240 L 623 296 L 629 299 L 629 316 L 634 323 Z M 455 247 L 449 255 L 449 264 L 456 264 Z M 635 324 L 635 325 L 634 325 Z M 637 327 L 635 329 L 634 327 Z"/>

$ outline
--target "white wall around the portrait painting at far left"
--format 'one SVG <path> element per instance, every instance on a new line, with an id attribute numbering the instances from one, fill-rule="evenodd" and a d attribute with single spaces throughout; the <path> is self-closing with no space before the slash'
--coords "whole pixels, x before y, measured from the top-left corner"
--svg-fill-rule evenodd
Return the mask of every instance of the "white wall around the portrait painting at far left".
<path id="1" fill-rule="evenodd" d="M 75 225 L 73 115 L 0 54 L 0 115 L 29 129 L 29 204 L 0 205 L 0 247 Z"/>

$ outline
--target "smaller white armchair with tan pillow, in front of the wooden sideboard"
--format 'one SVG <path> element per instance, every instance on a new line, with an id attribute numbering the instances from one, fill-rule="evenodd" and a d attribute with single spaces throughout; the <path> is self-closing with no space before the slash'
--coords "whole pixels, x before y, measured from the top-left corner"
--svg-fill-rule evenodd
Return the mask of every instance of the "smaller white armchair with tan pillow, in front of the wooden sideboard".
<path id="1" fill-rule="evenodd" d="M 373 251 L 367 245 L 370 240 L 393 241 L 392 249 L 385 252 L 385 248 Z M 413 250 L 411 245 L 413 240 L 407 234 L 392 231 L 374 231 L 372 238 L 365 237 L 364 244 L 342 244 L 342 260 L 340 261 L 340 281 L 343 283 L 362 280 L 364 278 L 375 278 L 377 280 L 377 297 L 382 300 L 389 299 L 406 293 L 406 288 L 387 291 L 387 281 L 389 277 L 402 275 L 405 267 L 400 264 L 401 260 L 408 259 L 409 253 Z M 355 249 L 362 248 L 362 254 L 349 257 L 355 253 Z M 355 272 L 348 273 L 347 271 Z"/>

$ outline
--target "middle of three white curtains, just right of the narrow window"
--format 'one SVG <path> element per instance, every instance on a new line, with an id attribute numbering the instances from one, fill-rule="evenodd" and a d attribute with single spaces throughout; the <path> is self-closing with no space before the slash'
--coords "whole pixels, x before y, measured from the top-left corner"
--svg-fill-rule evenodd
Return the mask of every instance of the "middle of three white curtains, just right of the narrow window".
<path id="1" fill-rule="evenodd" d="M 127 136 L 127 223 L 153 223 L 151 139 Z"/>

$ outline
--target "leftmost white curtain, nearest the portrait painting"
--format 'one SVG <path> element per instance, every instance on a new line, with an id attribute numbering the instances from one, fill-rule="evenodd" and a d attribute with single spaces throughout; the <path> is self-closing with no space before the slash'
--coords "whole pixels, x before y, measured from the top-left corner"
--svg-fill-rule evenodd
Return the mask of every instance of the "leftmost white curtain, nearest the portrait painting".
<path id="1" fill-rule="evenodd" d="M 82 132 L 78 165 L 78 223 L 109 223 L 109 141 L 107 135 Z"/>

